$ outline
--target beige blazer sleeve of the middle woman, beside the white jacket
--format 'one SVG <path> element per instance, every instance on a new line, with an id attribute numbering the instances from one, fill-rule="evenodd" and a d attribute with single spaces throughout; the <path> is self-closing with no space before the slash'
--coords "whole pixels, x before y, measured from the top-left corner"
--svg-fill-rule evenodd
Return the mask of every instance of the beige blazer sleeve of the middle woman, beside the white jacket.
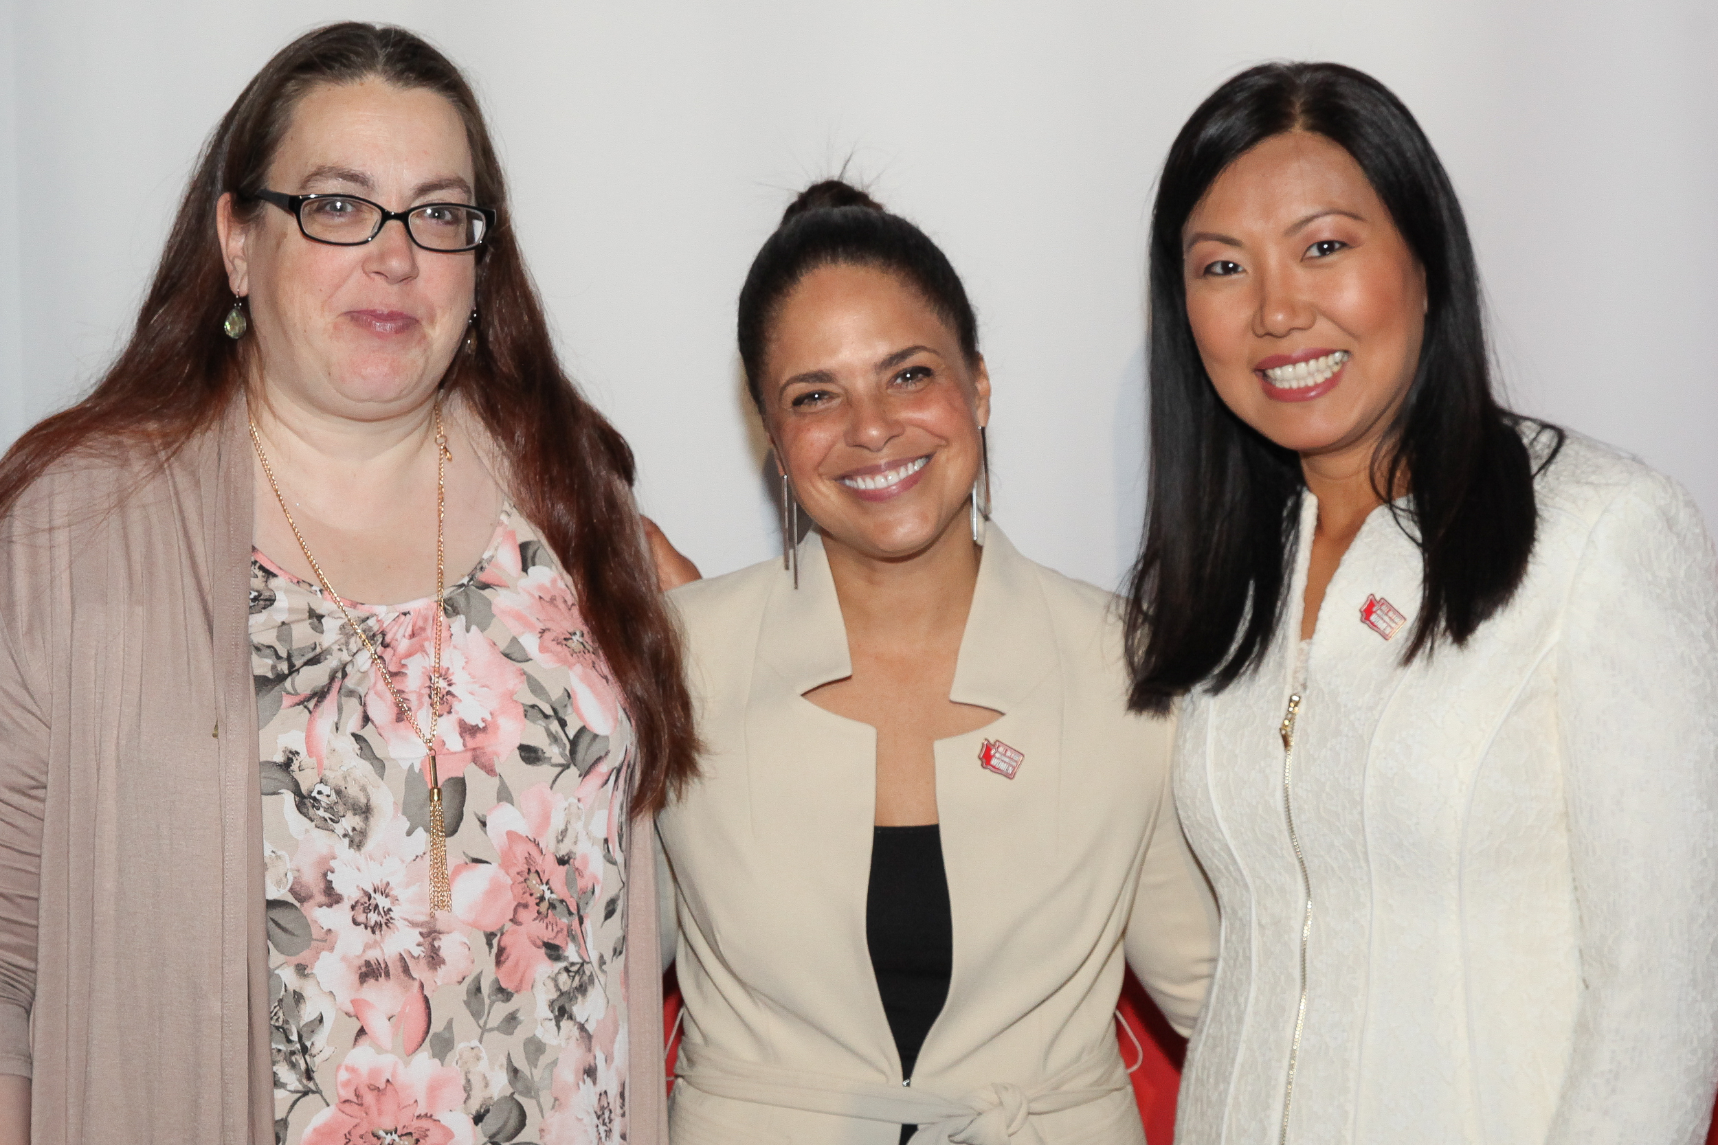
<path id="1" fill-rule="evenodd" d="M 1170 1025 L 1192 1033 L 1216 968 L 1216 898 L 1182 834 L 1167 766 L 1122 948 Z"/>

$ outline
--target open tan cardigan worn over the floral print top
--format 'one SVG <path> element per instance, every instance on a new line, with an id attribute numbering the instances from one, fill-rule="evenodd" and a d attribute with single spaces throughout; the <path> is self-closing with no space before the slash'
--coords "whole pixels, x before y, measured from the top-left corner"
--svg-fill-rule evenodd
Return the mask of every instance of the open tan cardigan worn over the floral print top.
<path id="1" fill-rule="evenodd" d="M 33 1078 L 33 1145 L 275 1140 L 244 417 L 165 470 L 60 462 L 0 520 L 0 1073 Z M 649 831 L 627 850 L 656 1145 Z"/>

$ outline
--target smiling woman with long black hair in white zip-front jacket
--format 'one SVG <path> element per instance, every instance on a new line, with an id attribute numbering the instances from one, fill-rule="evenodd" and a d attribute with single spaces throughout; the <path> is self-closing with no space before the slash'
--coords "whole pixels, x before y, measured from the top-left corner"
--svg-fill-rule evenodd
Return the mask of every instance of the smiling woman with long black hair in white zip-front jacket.
<path id="1" fill-rule="evenodd" d="M 1689 496 L 1502 409 L 1462 211 L 1374 79 L 1170 149 L 1132 704 L 1223 913 L 1180 1142 L 1694 1142 L 1718 577 Z"/>

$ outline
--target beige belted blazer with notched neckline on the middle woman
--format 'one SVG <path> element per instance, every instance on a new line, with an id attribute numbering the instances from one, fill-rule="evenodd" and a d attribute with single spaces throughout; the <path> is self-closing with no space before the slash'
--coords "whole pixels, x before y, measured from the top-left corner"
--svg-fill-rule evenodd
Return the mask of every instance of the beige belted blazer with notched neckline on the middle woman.
<path id="1" fill-rule="evenodd" d="M 804 699 L 850 666 L 816 536 L 799 561 L 797 591 L 768 561 L 670 597 L 706 745 L 658 815 L 685 994 L 675 1145 L 893 1145 L 900 1124 L 921 1145 L 1137 1145 L 1124 954 L 1185 1032 L 1215 910 L 1168 795 L 1170 723 L 1125 711 L 1112 597 L 990 527 L 950 697 L 1002 716 L 936 743 L 953 977 L 909 1087 L 866 946 L 876 733 Z M 1014 778 L 983 767 L 984 740 L 1024 755 Z"/>

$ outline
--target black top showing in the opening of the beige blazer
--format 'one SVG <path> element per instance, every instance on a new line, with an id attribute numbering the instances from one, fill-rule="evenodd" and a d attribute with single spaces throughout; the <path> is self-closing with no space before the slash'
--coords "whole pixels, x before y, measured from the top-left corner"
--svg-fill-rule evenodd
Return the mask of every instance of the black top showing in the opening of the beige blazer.
<path id="1" fill-rule="evenodd" d="M 876 827 L 864 929 L 871 970 L 895 1035 L 902 1078 L 912 1078 L 931 1023 L 948 1001 L 953 922 L 938 826 Z M 905 1126 L 900 1140 L 911 1136 Z"/>

